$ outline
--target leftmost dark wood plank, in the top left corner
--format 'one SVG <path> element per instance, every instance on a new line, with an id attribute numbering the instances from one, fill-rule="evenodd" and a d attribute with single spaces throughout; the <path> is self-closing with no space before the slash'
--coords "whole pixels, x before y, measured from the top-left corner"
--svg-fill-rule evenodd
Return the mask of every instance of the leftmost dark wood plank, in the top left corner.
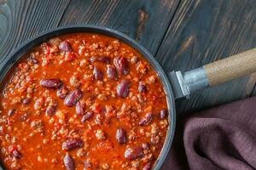
<path id="1" fill-rule="evenodd" d="M 0 1 L 0 59 L 26 39 L 58 26 L 69 1 Z"/>

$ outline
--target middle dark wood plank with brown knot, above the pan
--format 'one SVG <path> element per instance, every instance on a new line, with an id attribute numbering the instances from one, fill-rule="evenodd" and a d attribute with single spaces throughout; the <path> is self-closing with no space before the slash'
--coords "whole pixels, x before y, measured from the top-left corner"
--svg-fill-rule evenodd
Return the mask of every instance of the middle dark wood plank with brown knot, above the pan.
<path id="1" fill-rule="evenodd" d="M 61 26 L 71 24 L 107 26 L 137 39 L 155 54 L 178 2 L 178 0 L 73 0 L 61 20 Z"/>

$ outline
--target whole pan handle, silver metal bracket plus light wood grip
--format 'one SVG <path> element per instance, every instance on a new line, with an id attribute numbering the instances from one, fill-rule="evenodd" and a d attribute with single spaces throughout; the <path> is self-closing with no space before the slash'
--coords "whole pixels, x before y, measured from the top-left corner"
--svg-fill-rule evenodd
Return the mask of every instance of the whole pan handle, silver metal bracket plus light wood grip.
<path id="1" fill-rule="evenodd" d="M 176 99 L 256 71 L 256 48 L 204 65 L 192 71 L 169 74 Z"/>

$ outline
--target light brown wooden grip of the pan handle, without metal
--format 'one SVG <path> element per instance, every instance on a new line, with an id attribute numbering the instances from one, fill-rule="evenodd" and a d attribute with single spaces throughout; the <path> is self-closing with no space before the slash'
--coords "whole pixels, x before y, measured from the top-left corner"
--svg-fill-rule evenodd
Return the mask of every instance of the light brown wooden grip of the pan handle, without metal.
<path id="1" fill-rule="evenodd" d="M 256 48 L 204 65 L 210 86 L 256 71 Z"/>

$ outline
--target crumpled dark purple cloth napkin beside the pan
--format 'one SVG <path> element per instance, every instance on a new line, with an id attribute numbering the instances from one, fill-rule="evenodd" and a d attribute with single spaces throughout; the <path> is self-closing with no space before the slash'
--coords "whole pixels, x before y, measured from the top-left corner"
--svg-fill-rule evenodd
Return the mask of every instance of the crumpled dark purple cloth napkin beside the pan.
<path id="1" fill-rule="evenodd" d="M 256 97 L 177 122 L 162 169 L 256 169 Z"/>

